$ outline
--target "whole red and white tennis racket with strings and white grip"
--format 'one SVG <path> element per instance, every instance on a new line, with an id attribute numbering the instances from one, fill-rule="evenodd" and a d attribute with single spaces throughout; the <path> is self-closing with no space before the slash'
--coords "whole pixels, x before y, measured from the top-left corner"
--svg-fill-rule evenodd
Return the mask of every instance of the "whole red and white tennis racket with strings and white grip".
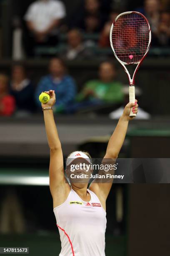
<path id="1" fill-rule="evenodd" d="M 146 57 L 151 42 L 150 25 L 146 17 L 138 12 L 120 13 L 110 29 L 110 45 L 116 59 L 122 64 L 129 79 L 129 101 L 135 103 L 135 75 Z M 136 64 L 131 78 L 125 65 Z M 134 117 L 132 108 L 130 117 Z"/>

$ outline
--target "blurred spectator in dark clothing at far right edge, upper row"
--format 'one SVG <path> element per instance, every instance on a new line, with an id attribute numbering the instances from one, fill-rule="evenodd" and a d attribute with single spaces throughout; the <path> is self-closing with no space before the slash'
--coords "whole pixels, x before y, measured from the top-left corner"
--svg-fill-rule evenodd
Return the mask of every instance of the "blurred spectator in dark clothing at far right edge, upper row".
<path id="1" fill-rule="evenodd" d="M 170 46 L 170 13 L 168 12 L 162 12 L 160 14 L 158 44 L 160 46 Z"/>

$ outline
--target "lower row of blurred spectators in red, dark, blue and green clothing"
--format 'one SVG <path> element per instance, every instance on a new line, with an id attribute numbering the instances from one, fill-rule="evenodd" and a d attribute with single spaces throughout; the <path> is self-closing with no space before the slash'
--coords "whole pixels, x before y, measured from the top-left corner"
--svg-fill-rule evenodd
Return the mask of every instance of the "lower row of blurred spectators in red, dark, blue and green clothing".
<path id="1" fill-rule="evenodd" d="M 21 63 L 13 65 L 11 77 L 0 74 L 0 115 L 30 115 L 41 110 L 39 95 L 43 91 L 55 90 L 55 113 L 76 113 L 87 107 L 118 104 L 123 100 L 122 84 L 116 80 L 113 63 L 100 64 L 98 77 L 87 81 L 77 92 L 77 84 L 67 74 L 62 59 L 50 59 L 48 74 L 33 84 Z"/>

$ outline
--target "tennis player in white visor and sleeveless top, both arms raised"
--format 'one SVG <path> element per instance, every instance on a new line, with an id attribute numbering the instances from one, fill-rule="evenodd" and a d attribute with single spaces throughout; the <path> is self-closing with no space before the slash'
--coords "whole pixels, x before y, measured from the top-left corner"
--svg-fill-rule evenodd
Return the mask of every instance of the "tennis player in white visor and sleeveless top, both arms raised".
<path id="1" fill-rule="evenodd" d="M 50 192 L 53 209 L 60 233 L 61 252 L 59 256 L 105 256 L 106 199 L 112 182 L 92 182 L 87 189 L 88 178 L 82 182 L 67 182 L 63 156 L 58 137 L 52 106 L 55 104 L 55 91 L 46 92 L 50 100 L 42 104 L 48 145 L 50 147 Z M 128 128 L 130 108 L 138 112 L 137 100 L 128 103 L 112 134 L 104 159 L 117 158 Z M 67 136 L 67 135 L 66 135 Z M 69 136 L 69 125 L 68 125 Z M 91 163 L 89 154 L 72 152 L 66 161 L 67 169 L 73 164 Z M 77 174 L 87 170 L 78 169 Z M 91 171 L 91 170 L 90 170 Z M 68 172 L 67 172 L 68 173 Z"/>

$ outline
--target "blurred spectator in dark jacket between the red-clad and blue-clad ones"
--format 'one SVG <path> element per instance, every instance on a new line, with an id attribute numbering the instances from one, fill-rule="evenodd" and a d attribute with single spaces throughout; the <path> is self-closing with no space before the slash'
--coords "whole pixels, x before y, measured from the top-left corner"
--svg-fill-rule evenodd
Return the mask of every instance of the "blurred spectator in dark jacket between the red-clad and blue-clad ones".
<path id="1" fill-rule="evenodd" d="M 18 115 L 27 115 L 35 111 L 34 87 L 21 64 L 15 64 L 12 68 L 10 94 L 15 97 Z"/>

